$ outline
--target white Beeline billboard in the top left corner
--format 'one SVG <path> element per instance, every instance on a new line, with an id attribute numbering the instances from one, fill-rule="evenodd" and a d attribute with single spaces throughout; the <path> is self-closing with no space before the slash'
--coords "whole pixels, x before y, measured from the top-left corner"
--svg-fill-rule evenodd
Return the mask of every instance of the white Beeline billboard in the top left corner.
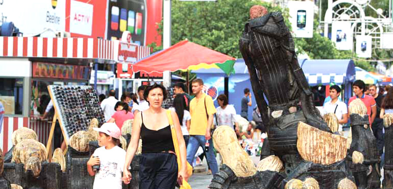
<path id="1" fill-rule="evenodd" d="M 66 0 L 2 0 L 0 22 L 14 22 L 24 36 L 42 33 L 45 29 L 65 31 Z"/>

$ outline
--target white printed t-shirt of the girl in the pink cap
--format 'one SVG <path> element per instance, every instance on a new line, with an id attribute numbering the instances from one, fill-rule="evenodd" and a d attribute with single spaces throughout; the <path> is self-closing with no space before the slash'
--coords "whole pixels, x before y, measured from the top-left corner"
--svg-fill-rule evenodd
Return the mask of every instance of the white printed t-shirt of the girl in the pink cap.
<path id="1" fill-rule="evenodd" d="M 110 150 L 100 147 L 94 151 L 93 156 L 100 158 L 100 170 L 95 173 L 93 189 L 121 189 L 121 172 L 126 159 L 126 151 L 118 146 Z"/>

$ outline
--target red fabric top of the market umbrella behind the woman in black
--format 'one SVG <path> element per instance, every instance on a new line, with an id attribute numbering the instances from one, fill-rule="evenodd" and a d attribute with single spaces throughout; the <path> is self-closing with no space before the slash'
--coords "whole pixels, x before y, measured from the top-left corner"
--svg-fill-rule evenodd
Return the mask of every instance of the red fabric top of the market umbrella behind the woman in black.
<path id="1" fill-rule="evenodd" d="M 168 49 L 140 60 L 132 65 L 132 69 L 133 72 L 142 70 L 146 73 L 175 72 L 176 70 L 188 69 L 190 66 L 202 63 L 223 63 L 227 60 L 234 61 L 236 59 L 205 46 L 184 40 L 170 46 Z"/>

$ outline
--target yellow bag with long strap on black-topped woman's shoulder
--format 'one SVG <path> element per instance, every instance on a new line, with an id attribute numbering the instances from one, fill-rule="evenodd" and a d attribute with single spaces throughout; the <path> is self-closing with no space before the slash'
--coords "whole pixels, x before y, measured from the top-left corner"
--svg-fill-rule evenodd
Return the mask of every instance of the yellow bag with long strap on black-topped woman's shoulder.
<path id="1" fill-rule="evenodd" d="M 169 121 L 169 125 L 170 125 L 170 132 L 172 133 L 172 139 L 174 141 L 174 147 L 175 147 L 175 153 L 176 153 L 176 158 L 178 160 L 178 171 L 180 171 L 181 167 L 182 167 L 182 162 L 180 160 L 180 148 L 179 148 L 179 143 L 178 143 L 178 137 L 176 135 L 176 130 L 175 130 L 175 126 L 174 126 L 174 122 L 172 120 L 172 116 L 171 116 L 171 111 L 170 110 L 166 110 L 166 115 L 168 117 L 168 121 Z M 190 165 L 190 163 L 186 163 L 187 166 L 187 175 L 191 176 L 192 175 L 192 166 Z M 188 184 L 188 182 L 186 180 L 183 179 L 183 184 L 180 186 L 181 189 L 191 189 L 191 186 Z"/>

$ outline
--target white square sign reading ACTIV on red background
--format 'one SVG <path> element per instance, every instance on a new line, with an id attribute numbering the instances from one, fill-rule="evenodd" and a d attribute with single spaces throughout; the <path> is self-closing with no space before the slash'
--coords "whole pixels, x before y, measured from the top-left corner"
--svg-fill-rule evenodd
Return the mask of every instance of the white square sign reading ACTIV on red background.
<path id="1" fill-rule="evenodd" d="M 93 9 L 94 6 L 91 4 L 72 0 L 70 2 L 69 31 L 90 36 L 93 25 Z"/>

